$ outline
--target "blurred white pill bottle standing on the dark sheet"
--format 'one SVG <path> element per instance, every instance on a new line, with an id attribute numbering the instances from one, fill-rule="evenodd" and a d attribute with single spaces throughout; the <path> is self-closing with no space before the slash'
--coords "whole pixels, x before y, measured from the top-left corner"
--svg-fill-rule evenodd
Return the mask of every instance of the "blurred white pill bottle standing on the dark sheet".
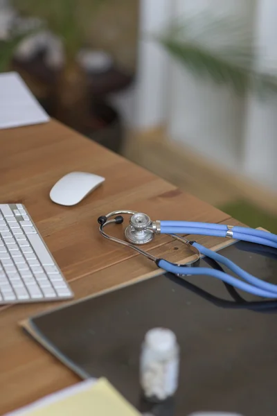
<path id="1" fill-rule="evenodd" d="M 161 402 L 178 388 L 179 345 L 166 328 L 150 329 L 141 348 L 140 383 L 145 399 Z"/>

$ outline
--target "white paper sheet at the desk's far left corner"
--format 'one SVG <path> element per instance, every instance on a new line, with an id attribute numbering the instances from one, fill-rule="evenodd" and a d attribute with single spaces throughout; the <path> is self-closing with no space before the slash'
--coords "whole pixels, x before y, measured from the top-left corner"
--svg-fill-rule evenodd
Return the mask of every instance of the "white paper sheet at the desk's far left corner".
<path id="1" fill-rule="evenodd" d="M 50 117 L 17 72 L 0 73 L 0 129 L 49 120 Z"/>

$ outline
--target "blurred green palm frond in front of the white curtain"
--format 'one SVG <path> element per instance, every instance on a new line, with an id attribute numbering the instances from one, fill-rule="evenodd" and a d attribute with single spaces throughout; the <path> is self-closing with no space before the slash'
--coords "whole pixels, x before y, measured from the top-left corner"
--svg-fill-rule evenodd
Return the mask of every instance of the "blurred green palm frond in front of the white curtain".
<path id="1" fill-rule="evenodd" d="M 276 67 L 267 69 L 266 60 L 258 67 L 261 51 L 238 19 L 200 12 L 154 38 L 194 76 L 229 85 L 240 95 L 249 89 L 260 96 L 277 92 Z"/>

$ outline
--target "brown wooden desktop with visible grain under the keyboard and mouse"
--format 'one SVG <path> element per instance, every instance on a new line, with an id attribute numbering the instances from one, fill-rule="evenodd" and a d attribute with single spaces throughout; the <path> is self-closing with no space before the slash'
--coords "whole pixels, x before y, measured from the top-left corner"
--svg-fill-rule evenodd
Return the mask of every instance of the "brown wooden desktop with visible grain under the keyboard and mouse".
<path id="1" fill-rule="evenodd" d="M 55 121 L 1 130 L 0 146 L 0 202 L 26 205 L 76 299 L 156 268 L 132 250 L 103 239 L 97 223 L 102 214 L 133 209 L 153 219 L 233 223 L 222 211 Z M 71 171 L 96 173 L 106 182 L 75 207 L 55 205 L 49 191 Z M 200 241 L 211 246 L 217 239 L 204 237 Z M 184 244 L 172 242 L 167 236 L 155 239 L 149 248 L 170 260 L 190 254 Z M 78 381 L 18 326 L 20 320 L 56 306 L 52 302 L 0 309 L 1 415 Z"/>

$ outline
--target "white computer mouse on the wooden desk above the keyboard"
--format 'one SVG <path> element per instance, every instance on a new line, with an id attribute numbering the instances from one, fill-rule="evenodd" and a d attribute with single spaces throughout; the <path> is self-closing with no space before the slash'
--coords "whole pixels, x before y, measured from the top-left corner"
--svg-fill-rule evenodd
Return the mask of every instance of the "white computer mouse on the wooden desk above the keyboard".
<path id="1" fill-rule="evenodd" d="M 50 198 L 56 204 L 76 205 L 93 189 L 99 187 L 105 177 L 88 172 L 71 172 L 61 177 L 50 191 Z"/>

